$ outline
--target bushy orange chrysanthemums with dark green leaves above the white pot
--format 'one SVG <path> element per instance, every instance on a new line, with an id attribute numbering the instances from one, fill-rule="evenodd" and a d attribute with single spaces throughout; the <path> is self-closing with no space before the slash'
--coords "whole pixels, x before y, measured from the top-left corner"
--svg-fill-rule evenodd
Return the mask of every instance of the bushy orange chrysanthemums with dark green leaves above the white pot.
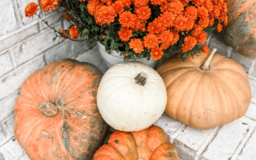
<path id="1" fill-rule="evenodd" d="M 167 51 L 182 50 L 182 58 L 196 54 L 207 41 L 207 32 L 220 32 L 227 25 L 225 0 L 39 0 L 47 13 L 61 6 L 71 26 L 58 33 L 72 40 L 98 40 L 124 61 L 136 58 L 159 60 Z M 27 17 L 38 4 L 29 3 Z M 80 35 L 80 37 L 79 37 Z M 209 52 L 205 45 L 202 50 Z M 191 52 L 194 51 L 194 52 Z"/>

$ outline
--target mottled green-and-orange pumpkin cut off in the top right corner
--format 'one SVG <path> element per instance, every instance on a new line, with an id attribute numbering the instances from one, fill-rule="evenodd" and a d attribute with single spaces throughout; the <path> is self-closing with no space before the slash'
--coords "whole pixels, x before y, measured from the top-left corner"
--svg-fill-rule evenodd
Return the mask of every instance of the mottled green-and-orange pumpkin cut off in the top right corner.
<path id="1" fill-rule="evenodd" d="M 241 55 L 256 58 L 256 0 L 227 0 L 225 42 Z"/>

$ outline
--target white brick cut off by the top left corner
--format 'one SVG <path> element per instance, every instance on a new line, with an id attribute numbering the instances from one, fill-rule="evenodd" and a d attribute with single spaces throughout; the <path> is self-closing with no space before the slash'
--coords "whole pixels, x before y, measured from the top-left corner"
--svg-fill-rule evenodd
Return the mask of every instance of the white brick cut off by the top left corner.
<path id="1" fill-rule="evenodd" d="M 17 28 L 12 0 L 0 1 L 0 36 Z"/>

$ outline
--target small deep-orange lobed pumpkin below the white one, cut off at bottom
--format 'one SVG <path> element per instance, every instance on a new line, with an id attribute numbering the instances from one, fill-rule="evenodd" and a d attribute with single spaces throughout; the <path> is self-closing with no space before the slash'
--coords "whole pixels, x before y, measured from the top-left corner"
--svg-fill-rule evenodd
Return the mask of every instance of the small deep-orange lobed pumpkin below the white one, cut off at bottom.
<path id="1" fill-rule="evenodd" d="M 93 160 L 177 160 L 174 145 L 158 126 L 134 132 L 115 131 Z"/>

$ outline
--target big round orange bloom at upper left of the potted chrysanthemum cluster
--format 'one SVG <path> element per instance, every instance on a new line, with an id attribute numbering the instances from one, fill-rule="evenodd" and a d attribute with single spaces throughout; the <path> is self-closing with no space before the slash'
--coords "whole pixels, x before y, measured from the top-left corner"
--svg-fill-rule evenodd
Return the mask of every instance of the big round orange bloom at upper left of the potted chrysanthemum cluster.
<path id="1" fill-rule="evenodd" d="M 113 6 L 102 6 L 94 15 L 97 24 L 110 24 L 115 21 L 116 13 Z"/>

